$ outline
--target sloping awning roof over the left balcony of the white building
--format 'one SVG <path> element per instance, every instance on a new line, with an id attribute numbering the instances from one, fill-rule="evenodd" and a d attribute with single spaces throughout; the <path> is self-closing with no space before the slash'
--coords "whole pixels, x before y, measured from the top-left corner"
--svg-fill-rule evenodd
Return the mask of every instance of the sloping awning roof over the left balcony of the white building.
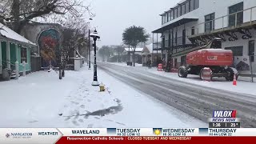
<path id="1" fill-rule="evenodd" d="M 167 26 L 163 26 L 163 27 L 161 27 L 158 30 L 154 30 L 154 31 L 152 31 L 152 33 L 163 33 L 166 30 L 170 30 L 170 29 L 172 29 L 174 27 L 181 26 L 181 25 L 183 25 L 185 23 L 194 22 L 194 21 L 198 21 L 198 18 L 182 18 L 182 19 L 180 19 L 180 20 L 178 20 L 176 22 L 170 23 Z"/>

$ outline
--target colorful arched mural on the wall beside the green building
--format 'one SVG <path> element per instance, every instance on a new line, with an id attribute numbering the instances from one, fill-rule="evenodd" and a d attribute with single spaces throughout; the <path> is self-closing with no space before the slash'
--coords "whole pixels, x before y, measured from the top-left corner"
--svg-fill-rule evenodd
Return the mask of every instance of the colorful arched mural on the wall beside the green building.
<path id="1" fill-rule="evenodd" d="M 38 38 L 42 56 L 42 67 L 58 66 L 60 53 L 60 35 L 57 30 L 43 31 Z"/>

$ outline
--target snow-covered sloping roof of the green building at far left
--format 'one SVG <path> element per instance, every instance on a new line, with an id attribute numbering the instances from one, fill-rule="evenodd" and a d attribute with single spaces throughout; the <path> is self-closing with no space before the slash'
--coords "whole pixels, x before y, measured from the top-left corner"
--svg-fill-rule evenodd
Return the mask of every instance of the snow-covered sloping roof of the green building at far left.
<path id="1" fill-rule="evenodd" d="M 14 41 L 24 42 L 26 44 L 30 44 L 30 45 L 36 46 L 36 44 L 34 44 L 33 42 L 30 42 L 26 38 L 22 37 L 20 34 L 17 34 L 16 32 L 14 32 L 14 30 L 10 30 L 9 27 L 3 25 L 0 22 L 0 36 L 1 35 L 3 37 L 10 38 L 11 40 L 14 40 Z"/>

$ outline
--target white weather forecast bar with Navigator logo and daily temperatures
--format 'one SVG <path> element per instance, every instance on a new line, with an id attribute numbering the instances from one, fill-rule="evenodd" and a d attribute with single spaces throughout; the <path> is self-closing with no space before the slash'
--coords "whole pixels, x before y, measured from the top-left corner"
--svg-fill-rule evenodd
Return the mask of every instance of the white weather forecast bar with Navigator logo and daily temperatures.
<path id="1" fill-rule="evenodd" d="M 58 128 L 58 129 L 0 129 L 0 143 L 55 143 L 60 138 L 126 138 L 126 137 L 256 137 L 256 129 L 222 128 Z"/>

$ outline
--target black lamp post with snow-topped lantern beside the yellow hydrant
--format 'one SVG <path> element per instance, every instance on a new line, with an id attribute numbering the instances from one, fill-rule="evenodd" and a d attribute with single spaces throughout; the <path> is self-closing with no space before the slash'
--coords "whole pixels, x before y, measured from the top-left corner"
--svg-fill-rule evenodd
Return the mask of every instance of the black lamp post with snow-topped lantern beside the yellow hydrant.
<path id="1" fill-rule="evenodd" d="M 97 76 L 97 63 L 96 63 L 96 41 L 99 39 L 99 35 L 97 30 L 94 30 L 92 34 L 90 34 L 91 38 L 94 38 L 94 82 L 92 83 L 92 86 L 99 86 L 98 83 L 98 76 Z"/>

